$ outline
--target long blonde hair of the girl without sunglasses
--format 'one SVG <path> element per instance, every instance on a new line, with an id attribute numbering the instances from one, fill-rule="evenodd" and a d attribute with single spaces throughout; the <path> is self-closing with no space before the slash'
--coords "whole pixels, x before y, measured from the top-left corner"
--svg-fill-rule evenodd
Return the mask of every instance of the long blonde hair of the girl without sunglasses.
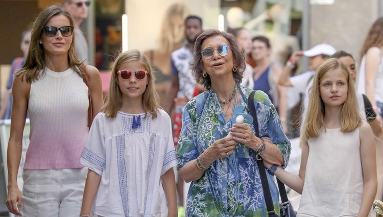
<path id="1" fill-rule="evenodd" d="M 341 69 L 343 71 L 347 78 L 348 85 L 346 101 L 344 102 L 341 110 L 341 131 L 343 133 L 351 132 L 362 124 L 361 115 L 357 110 L 358 106 L 356 102 L 354 82 L 352 81 L 350 72 L 341 61 L 336 58 L 330 58 L 319 66 L 314 77 L 302 132 L 307 136 L 307 138 L 317 137 L 322 126 L 324 126 L 323 116 L 325 113 L 325 107 L 320 96 L 319 86 L 323 76 L 329 71 L 335 69 Z"/>

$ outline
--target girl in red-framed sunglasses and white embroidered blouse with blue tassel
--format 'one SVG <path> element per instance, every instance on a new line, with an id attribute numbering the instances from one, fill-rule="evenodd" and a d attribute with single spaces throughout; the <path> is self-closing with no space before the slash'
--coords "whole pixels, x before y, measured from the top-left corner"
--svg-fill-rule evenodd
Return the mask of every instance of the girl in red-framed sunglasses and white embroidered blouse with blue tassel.
<path id="1" fill-rule="evenodd" d="M 149 59 L 126 51 L 112 67 L 105 105 L 81 163 L 89 168 L 80 216 L 177 217 L 170 116 L 160 108 Z"/>

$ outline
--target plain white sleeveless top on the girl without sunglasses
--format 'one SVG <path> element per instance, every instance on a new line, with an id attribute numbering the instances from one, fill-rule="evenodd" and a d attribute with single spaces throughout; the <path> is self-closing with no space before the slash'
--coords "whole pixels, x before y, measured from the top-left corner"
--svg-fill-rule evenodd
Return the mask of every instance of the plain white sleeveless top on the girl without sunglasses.
<path id="1" fill-rule="evenodd" d="M 364 189 L 359 128 L 322 129 L 308 147 L 297 216 L 357 216 Z"/>

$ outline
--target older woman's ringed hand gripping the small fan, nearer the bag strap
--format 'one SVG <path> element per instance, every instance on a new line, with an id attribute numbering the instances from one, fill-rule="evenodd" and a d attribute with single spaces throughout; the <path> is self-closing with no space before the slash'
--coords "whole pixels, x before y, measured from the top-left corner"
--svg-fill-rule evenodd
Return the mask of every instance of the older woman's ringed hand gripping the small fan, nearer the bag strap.
<path id="1" fill-rule="evenodd" d="M 254 151 L 256 151 L 261 144 L 261 139 L 256 137 L 247 125 L 234 124 L 229 131 L 236 142 L 243 143 Z"/>

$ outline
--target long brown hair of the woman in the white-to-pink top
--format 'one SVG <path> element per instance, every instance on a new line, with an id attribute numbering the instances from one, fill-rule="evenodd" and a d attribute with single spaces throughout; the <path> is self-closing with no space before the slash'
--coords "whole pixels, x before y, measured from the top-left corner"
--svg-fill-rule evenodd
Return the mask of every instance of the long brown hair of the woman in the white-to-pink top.
<path id="1" fill-rule="evenodd" d="M 28 55 L 22 68 L 15 74 L 15 76 L 21 76 L 21 78 L 25 78 L 27 82 L 32 83 L 40 76 L 44 75 L 46 66 L 45 51 L 43 45 L 40 44 L 39 41 L 41 39 L 41 35 L 44 34 L 42 28 L 52 17 L 57 15 L 65 16 L 69 20 L 70 26 L 74 26 L 73 19 L 69 15 L 69 12 L 61 5 L 53 5 L 44 9 L 32 24 L 31 42 Z M 68 50 L 69 67 L 84 78 L 81 70 L 79 69 L 82 62 L 80 62 L 76 57 L 75 33 L 73 33 L 70 37 L 73 37 L 73 39 Z"/>

